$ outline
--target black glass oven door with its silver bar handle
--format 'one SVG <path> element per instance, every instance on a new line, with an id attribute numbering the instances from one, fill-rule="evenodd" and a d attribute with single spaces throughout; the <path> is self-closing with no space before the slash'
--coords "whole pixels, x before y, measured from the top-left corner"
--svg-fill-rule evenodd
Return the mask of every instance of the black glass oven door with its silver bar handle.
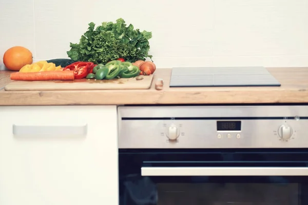
<path id="1" fill-rule="evenodd" d="M 120 205 L 306 205 L 308 149 L 120 149 Z"/>

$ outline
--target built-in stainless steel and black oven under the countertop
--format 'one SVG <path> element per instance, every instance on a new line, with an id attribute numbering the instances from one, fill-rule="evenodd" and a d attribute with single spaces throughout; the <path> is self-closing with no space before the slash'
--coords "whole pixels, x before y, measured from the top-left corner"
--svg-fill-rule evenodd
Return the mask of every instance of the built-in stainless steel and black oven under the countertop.
<path id="1" fill-rule="evenodd" d="M 308 105 L 118 112 L 120 205 L 308 204 Z"/>

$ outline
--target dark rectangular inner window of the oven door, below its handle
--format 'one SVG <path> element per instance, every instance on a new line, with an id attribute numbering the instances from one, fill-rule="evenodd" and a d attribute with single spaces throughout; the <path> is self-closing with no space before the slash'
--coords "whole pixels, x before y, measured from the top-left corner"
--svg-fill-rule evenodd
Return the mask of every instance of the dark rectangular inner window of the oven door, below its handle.
<path id="1" fill-rule="evenodd" d="M 291 205 L 298 203 L 297 183 L 158 183 L 159 205 Z"/>

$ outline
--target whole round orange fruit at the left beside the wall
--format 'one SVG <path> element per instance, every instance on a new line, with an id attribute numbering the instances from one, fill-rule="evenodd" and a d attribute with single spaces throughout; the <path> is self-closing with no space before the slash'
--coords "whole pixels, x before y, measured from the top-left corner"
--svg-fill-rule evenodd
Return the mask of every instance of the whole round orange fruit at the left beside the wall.
<path id="1" fill-rule="evenodd" d="M 9 48 L 3 55 L 3 63 L 11 71 L 19 71 L 25 65 L 32 64 L 32 61 L 31 51 L 22 46 Z"/>

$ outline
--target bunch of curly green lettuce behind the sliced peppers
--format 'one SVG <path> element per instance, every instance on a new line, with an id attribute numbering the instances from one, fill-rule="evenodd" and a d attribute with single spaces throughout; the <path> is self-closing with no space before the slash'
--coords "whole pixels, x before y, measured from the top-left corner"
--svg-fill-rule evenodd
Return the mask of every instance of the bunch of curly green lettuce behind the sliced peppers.
<path id="1" fill-rule="evenodd" d="M 117 23 L 103 22 L 95 30 L 94 27 L 91 22 L 79 44 L 70 43 L 68 57 L 94 64 L 106 64 L 119 57 L 130 62 L 145 60 L 146 57 L 152 59 L 152 55 L 148 54 L 148 39 L 152 37 L 152 32 L 134 30 L 131 24 L 126 27 L 122 18 L 117 19 Z"/>

